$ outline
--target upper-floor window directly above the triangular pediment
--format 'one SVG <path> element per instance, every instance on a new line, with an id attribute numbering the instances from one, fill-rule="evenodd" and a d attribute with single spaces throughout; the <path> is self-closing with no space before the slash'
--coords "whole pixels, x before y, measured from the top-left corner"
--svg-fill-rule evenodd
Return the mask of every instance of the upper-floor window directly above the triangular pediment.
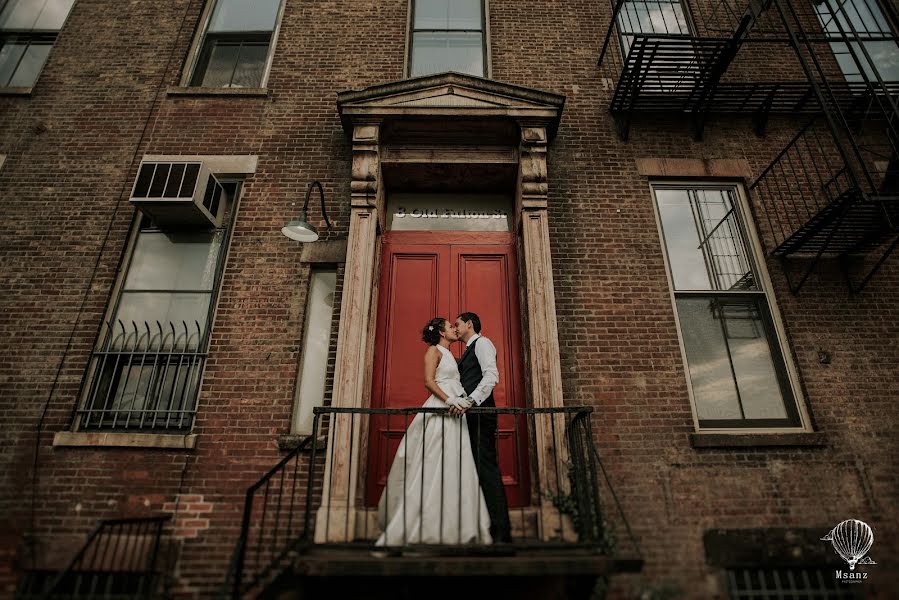
<path id="1" fill-rule="evenodd" d="M 457 71 L 484 77 L 483 0 L 413 0 L 409 76 Z"/>

